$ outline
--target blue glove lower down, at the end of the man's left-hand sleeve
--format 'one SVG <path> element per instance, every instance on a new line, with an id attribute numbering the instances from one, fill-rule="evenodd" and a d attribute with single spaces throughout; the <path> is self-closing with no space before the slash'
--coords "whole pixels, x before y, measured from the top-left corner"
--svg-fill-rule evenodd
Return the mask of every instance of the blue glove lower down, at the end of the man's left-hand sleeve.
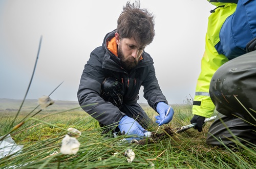
<path id="1" fill-rule="evenodd" d="M 144 136 L 144 132 L 147 132 L 138 122 L 128 116 L 122 117 L 118 127 L 121 132 L 124 131 L 127 135 L 138 135 L 142 137 Z"/>

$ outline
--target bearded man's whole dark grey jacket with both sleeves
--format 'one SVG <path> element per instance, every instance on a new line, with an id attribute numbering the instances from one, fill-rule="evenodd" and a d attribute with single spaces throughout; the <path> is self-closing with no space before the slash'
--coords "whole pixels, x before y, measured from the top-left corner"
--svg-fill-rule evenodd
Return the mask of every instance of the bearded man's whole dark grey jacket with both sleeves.
<path id="1" fill-rule="evenodd" d="M 143 59 L 134 69 L 127 72 L 120 66 L 119 58 L 106 47 L 115 32 L 116 30 L 107 34 L 102 46 L 91 52 L 90 59 L 84 66 L 77 93 L 79 104 L 83 110 L 106 126 L 117 124 L 125 115 L 125 112 L 121 112 L 112 103 L 106 102 L 100 97 L 101 83 L 106 77 L 112 76 L 123 82 L 123 103 L 127 105 L 137 103 L 141 86 L 144 87 L 144 98 L 155 110 L 157 102 L 167 103 L 158 85 L 150 54 L 143 51 Z M 90 105 L 93 103 L 97 104 Z"/>

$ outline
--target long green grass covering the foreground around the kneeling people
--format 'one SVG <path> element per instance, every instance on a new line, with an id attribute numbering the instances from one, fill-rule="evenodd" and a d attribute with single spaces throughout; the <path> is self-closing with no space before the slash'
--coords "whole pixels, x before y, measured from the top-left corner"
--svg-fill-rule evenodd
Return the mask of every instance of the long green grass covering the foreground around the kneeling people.
<path id="1" fill-rule="evenodd" d="M 98 122 L 81 109 L 54 111 L 49 108 L 11 132 L 15 143 L 24 147 L 21 152 L 2 158 L 0 168 L 255 168 L 255 148 L 233 150 L 206 145 L 211 122 L 200 133 L 189 129 L 156 143 L 138 145 L 120 142 L 125 136 L 102 135 Z M 143 108 L 154 118 L 156 112 L 152 108 Z M 174 119 L 164 126 L 176 128 L 190 124 L 193 117 L 190 104 L 174 105 L 173 108 Z M 21 111 L 14 125 L 23 121 L 29 112 Z M 0 113 L 0 135 L 4 135 L 13 127 L 10 124 L 16 114 Z M 81 145 L 77 154 L 63 155 L 59 153 L 61 140 L 70 127 L 82 132 L 77 138 Z M 156 131 L 157 127 L 153 125 L 151 131 Z M 158 132 L 163 132 L 163 128 Z M 128 148 L 136 154 L 132 163 L 124 156 Z"/>

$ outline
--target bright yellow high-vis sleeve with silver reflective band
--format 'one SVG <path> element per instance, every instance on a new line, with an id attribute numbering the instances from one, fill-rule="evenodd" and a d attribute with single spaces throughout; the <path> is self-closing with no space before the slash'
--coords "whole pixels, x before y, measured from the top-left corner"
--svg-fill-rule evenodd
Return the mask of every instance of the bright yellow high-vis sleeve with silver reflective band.
<path id="1" fill-rule="evenodd" d="M 205 52 L 201 60 L 201 73 L 197 80 L 196 93 L 193 102 L 193 114 L 209 118 L 214 112 L 215 105 L 209 96 L 211 77 L 216 70 L 228 59 L 219 54 L 216 47 L 220 45 L 219 33 L 222 24 L 228 16 L 236 11 L 235 3 L 212 3 L 216 8 L 208 17 L 208 27 L 205 37 Z"/>

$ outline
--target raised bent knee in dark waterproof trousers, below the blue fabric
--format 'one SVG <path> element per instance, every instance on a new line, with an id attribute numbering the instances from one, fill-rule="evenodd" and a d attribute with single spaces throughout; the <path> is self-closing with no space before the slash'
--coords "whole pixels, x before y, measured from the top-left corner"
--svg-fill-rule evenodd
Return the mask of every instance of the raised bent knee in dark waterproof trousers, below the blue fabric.
<path id="1" fill-rule="evenodd" d="M 217 111 L 252 124 L 256 124 L 255 57 L 256 51 L 253 51 L 225 63 L 212 76 L 209 87 Z"/>

